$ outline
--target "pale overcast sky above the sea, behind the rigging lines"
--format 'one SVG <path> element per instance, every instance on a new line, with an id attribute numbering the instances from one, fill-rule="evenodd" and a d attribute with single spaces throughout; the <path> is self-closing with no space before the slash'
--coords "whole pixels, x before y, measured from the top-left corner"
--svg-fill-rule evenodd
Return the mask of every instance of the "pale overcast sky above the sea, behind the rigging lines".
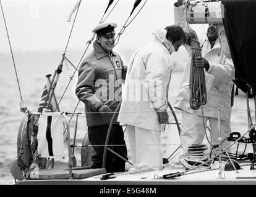
<path id="1" fill-rule="evenodd" d="M 66 20 L 77 0 L 1 0 L 1 2 L 14 52 L 65 49 L 75 14 L 70 23 Z M 117 0 L 114 1 L 116 2 Z M 117 32 L 129 17 L 134 2 L 134 0 L 119 0 L 106 20 L 117 23 Z M 142 0 L 134 15 L 142 7 L 143 2 L 145 0 Z M 143 46 L 150 41 L 153 28 L 174 24 L 174 2 L 174 0 L 147 0 L 142 11 L 121 35 L 116 49 L 136 49 Z M 100 22 L 107 5 L 108 0 L 82 0 L 68 50 L 84 49 L 85 43 L 92 37 L 93 27 Z M 193 26 L 198 36 L 205 33 L 205 26 Z M 0 14 L 0 52 L 9 51 L 3 17 Z"/>

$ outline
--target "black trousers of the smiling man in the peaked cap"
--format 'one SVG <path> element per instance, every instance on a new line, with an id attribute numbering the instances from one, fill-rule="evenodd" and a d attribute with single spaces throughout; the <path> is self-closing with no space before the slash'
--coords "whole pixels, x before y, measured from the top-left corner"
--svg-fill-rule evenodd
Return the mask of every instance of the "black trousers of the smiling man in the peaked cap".
<path id="1" fill-rule="evenodd" d="M 93 126 L 88 127 L 88 137 L 90 143 L 93 145 L 95 155 L 92 156 L 92 168 L 101 168 L 103 163 L 103 153 L 104 146 L 95 146 L 95 145 L 105 145 L 106 135 L 108 133 L 109 125 L 103 126 Z M 109 136 L 109 146 L 111 150 L 115 151 L 117 154 L 121 155 L 123 158 L 127 158 L 127 148 L 126 142 L 124 141 L 124 132 L 122 127 L 118 124 L 113 124 L 111 134 Z M 111 145 L 120 145 L 120 146 L 111 146 Z M 106 171 L 107 172 L 124 172 L 125 163 L 123 159 L 111 153 L 107 150 L 106 154 Z"/>

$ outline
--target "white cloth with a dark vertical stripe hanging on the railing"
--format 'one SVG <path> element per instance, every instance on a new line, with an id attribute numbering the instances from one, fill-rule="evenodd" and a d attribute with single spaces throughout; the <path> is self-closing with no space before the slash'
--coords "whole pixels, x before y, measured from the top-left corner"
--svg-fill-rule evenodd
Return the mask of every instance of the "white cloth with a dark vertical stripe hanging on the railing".
<path id="1" fill-rule="evenodd" d="M 64 158 L 64 125 L 61 113 L 42 113 L 38 125 L 38 155 Z"/>

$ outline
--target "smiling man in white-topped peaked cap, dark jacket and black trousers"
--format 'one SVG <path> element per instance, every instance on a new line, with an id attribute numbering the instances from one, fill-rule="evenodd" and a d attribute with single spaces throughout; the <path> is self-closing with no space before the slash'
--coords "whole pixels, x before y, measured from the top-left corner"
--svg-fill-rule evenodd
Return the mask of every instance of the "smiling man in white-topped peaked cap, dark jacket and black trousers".
<path id="1" fill-rule="evenodd" d="M 121 101 L 121 84 L 126 76 L 127 66 L 122 62 L 120 55 L 113 51 L 116 26 L 116 23 L 101 23 L 93 28 L 96 41 L 93 42 L 92 52 L 80 65 L 75 89 L 77 98 L 85 104 L 88 137 L 95 151 L 92 156 L 92 168 L 102 167 L 103 145 L 113 112 Z M 127 159 L 124 132 L 116 119 L 109 137 L 109 145 L 114 146 L 109 148 Z M 107 151 L 106 171 L 125 171 L 125 161 Z"/>

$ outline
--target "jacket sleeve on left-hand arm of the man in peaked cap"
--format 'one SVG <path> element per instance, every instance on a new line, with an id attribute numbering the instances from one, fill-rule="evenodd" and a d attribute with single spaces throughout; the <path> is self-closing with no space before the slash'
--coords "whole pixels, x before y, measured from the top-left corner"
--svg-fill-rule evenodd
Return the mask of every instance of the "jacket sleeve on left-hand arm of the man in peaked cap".
<path id="1" fill-rule="evenodd" d="M 83 62 L 79 68 L 78 81 L 75 89 L 77 98 L 83 103 L 87 103 L 91 111 L 103 105 L 103 102 L 94 94 L 95 67 L 90 62 Z"/>

